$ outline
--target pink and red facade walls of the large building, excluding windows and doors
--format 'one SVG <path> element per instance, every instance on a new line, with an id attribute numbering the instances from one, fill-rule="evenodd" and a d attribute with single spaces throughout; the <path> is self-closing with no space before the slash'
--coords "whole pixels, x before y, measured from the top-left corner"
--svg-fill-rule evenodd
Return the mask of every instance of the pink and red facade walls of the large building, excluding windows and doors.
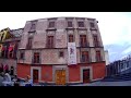
<path id="1" fill-rule="evenodd" d="M 68 27 L 68 21 L 72 22 L 72 27 Z M 34 70 L 37 70 L 38 81 L 48 81 L 56 83 L 56 71 L 66 70 L 66 83 L 83 82 L 84 70 L 90 70 L 90 79 L 99 79 L 105 76 L 105 53 L 104 46 L 95 19 L 84 17 L 56 17 L 36 20 L 35 28 L 32 28 L 34 21 L 27 21 L 24 27 L 24 35 L 20 44 L 20 51 L 24 52 L 24 59 L 17 60 L 17 75 L 24 77 L 29 74 L 34 78 Z M 55 22 L 52 28 L 49 28 L 49 23 Z M 83 22 L 84 26 L 79 27 L 78 22 Z M 94 27 L 90 26 L 94 24 Z M 31 32 L 32 30 L 32 32 Z M 76 45 L 76 62 L 74 66 L 68 65 L 68 42 L 69 35 L 73 35 Z M 88 47 L 81 47 L 80 36 L 85 35 Z M 98 47 L 94 46 L 93 35 L 98 36 Z M 28 38 L 33 37 L 32 48 L 27 49 Z M 48 36 L 53 36 L 53 47 L 48 48 Z M 59 57 L 60 51 L 63 52 L 63 58 Z M 82 51 L 87 51 L 90 61 L 82 62 Z M 100 60 L 96 59 L 96 51 L 100 51 Z M 39 52 L 39 63 L 34 63 L 34 52 Z M 81 66 L 82 65 L 82 66 Z M 27 69 L 26 73 L 22 74 L 21 68 Z M 29 71 L 28 71 L 29 70 Z M 20 72 L 19 72 L 20 71 Z M 47 78 L 44 76 L 47 75 Z"/>

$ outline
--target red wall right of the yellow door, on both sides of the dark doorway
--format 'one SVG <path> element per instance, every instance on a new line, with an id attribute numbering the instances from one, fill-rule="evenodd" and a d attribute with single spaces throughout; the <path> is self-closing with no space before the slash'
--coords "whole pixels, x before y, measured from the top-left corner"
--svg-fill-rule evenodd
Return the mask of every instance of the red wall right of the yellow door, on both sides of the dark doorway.
<path id="1" fill-rule="evenodd" d="M 81 66 L 92 66 L 93 70 L 93 79 L 103 78 L 106 75 L 106 65 L 105 62 L 97 62 L 91 64 L 79 64 L 76 66 L 69 66 L 69 82 L 79 82 L 81 81 Z"/>

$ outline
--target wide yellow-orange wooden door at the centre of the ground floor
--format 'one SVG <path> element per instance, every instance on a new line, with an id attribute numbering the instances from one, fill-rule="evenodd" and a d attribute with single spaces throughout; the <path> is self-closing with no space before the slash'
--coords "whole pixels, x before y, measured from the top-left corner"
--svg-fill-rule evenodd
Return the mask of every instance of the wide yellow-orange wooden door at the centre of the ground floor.
<path id="1" fill-rule="evenodd" d="M 66 85 L 66 70 L 56 70 L 56 84 Z"/>

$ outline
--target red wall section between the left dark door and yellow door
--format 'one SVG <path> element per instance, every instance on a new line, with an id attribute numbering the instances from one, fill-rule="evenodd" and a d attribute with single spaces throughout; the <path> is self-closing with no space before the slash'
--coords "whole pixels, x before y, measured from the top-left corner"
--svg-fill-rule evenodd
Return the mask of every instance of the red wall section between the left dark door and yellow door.
<path id="1" fill-rule="evenodd" d="M 46 74 L 48 77 L 45 78 Z M 41 66 L 41 81 L 52 82 L 52 65 Z"/>

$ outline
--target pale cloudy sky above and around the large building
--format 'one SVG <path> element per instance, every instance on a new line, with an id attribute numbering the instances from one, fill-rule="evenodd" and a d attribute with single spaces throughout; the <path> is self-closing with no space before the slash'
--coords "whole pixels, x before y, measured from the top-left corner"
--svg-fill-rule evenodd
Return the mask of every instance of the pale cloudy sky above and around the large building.
<path id="1" fill-rule="evenodd" d="M 121 59 L 131 51 L 131 12 L 0 12 L 0 29 L 21 28 L 26 21 L 57 16 L 96 19 L 110 61 Z"/>

